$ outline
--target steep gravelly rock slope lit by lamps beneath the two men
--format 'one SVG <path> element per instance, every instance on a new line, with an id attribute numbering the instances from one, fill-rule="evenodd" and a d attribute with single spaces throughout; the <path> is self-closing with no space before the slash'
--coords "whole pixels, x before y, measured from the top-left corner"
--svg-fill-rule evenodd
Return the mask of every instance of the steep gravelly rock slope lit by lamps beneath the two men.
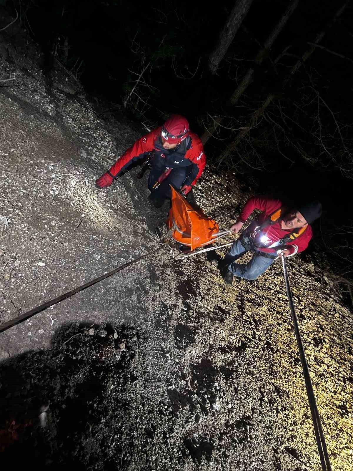
<path id="1" fill-rule="evenodd" d="M 139 133 L 100 120 L 64 70 L 49 89 L 32 44 L 1 51 L 0 76 L 16 73 L 0 93 L 5 322 L 157 248 L 168 208 L 149 205 L 138 169 L 96 189 Z M 208 167 L 196 203 L 227 228 L 240 187 Z M 324 264 L 288 269 L 332 468 L 348 471 L 353 317 Z M 280 263 L 229 287 L 205 255 L 157 252 L 0 334 L 0 353 L 12 466 L 320 469 Z"/>

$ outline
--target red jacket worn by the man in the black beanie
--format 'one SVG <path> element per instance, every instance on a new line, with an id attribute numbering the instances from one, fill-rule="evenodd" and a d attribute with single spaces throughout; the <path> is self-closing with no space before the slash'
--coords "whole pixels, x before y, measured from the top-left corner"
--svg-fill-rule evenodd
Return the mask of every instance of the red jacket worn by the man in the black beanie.
<path id="1" fill-rule="evenodd" d="M 245 206 L 243 210 L 241 211 L 237 220 L 241 222 L 245 222 L 250 216 L 250 214 L 254 211 L 254 209 L 259 209 L 261 211 L 264 211 L 256 219 L 257 225 L 260 225 L 266 219 L 268 219 L 268 217 L 274 211 L 278 210 L 281 207 L 283 207 L 283 203 L 280 200 L 275 200 L 266 196 L 253 196 L 247 201 L 247 203 L 245 203 Z M 264 227 L 262 229 L 263 235 L 267 237 L 266 243 L 268 245 L 271 245 L 274 242 L 277 242 L 282 237 L 285 237 L 291 232 L 293 232 L 293 229 L 283 230 L 281 228 L 280 219 L 276 221 L 272 226 Z M 313 236 L 313 230 L 310 224 L 308 224 L 305 231 L 295 239 L 295 243 L 294 242 L 286 243 L 287 248 L 289 249 L 289 252 L 290 252 L 289 255 L 294 255 L 297 252 L 302 252 L 303 250 L 305 250 L 312 236 Z M 272 249 L 259 248 L 257 250 L 260 250 L 262 252 L 275 253 L 278 250 L 278 247 L 277 248 L 274 247 Z"/>

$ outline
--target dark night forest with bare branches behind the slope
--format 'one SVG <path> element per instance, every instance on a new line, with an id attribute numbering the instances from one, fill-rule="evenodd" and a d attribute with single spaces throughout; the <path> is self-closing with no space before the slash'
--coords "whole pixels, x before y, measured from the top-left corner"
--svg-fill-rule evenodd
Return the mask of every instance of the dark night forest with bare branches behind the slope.
<path id="1" fill-rule="evenodd" d="M 40 45 L 49 86 L 65 68 L 103 118 L 125 115 L 146 130 L 184 114 L 214 172 L 320 199 L 316 240 L 352 277 L 351 1 L 0 4 Z"/>

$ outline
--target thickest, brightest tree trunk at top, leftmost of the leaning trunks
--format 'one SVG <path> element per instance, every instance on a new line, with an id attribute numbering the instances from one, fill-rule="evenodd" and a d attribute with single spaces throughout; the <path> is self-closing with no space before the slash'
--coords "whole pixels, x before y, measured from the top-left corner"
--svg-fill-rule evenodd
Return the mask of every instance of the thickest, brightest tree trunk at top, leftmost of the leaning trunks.
<path id="1" fill-rule="evenodd" d="M 252 1 L 253 0 L 236 0 L 228 21 L 219 33 L 217 46 L 209 55 L 208 67 L 212 75 L 216 74 L 218 66 L 223 57 L 225 57 L 225 53 L 241 26 L 243 19 L 247 15 Z"/>

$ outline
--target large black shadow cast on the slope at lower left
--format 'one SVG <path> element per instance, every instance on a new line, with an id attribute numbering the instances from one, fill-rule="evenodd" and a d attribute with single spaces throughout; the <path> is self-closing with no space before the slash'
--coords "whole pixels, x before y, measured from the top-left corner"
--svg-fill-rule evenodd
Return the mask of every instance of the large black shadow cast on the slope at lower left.
<path id="1" fill-rule="evenodd" d="M 137 333 L 111 325 L 68 324 L 48 350 L 0 365 L 0 458 L 13 469 L 116 469 L 128 463 L 116 439 L 129 405 Z M 135 345 L 135 346 L 134 346 Z M 114 457 L 114 459 L 112 459 Z M 115 467 L 114 467 L 115 465 Z"/>

